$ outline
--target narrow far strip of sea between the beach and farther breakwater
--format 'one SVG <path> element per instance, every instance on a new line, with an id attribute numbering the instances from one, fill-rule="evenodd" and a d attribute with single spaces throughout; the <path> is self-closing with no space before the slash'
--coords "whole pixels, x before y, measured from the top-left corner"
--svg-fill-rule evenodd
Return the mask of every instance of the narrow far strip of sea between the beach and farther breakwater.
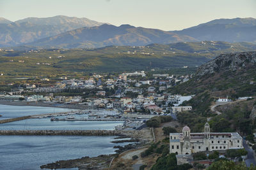
<path id="1" fill-rule="evenodd" d="M 40 113 L 57 113 L 71 111 L 66 108 L 47 108 L 47 107 L 36 107 L 36 106 L 8 106 L 0 104 L 0 117 L 1 119 L 24 117 L 28 115 L 37 115 Z"/>

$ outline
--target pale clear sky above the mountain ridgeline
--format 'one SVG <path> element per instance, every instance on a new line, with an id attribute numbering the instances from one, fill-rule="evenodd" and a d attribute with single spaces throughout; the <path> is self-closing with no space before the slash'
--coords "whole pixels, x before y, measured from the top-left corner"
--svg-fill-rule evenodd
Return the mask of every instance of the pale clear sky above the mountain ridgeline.
<path id="1" fill-rule="evenodd" d="M 0 17 L 86 17 L 173 31 L 219 18 L 256 18 L 256 0 L 0 0 Z"/>

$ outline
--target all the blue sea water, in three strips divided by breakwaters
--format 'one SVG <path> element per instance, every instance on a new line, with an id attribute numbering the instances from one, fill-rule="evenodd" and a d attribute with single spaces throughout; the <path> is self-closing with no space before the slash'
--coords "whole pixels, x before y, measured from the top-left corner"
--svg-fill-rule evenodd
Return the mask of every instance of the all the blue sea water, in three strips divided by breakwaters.
<path id="1" fill-rule="evenodd" d="M 67 111 L 61 108 L 0 105 L 3 118 Z M 0 129 L 26 130 L 112 130 L 122 122 L 51 122 L 50 118 L 33 118 L 0 124 Z M 0 136 L 0 169 L 40 169 L 56 160 L 95 157 L 115 153 L 115 136 Z M 118 143 L 124 146 L 127 143 Z"/>

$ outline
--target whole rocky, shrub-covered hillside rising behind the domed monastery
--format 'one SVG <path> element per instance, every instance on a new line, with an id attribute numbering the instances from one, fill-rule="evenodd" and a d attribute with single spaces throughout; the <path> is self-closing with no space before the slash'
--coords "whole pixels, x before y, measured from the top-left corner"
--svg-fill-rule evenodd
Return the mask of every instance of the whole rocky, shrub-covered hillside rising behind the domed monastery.
<path id="1" fill-rule="evenodd" d="M 192 106 L 191 113 L 178 115 L 182 124 L 191 127 L 191 131 L 202 131 L 207 118 L 212 132 L 240 132 L 252 134 L 256 128 L 256 52 L 221 54 L 200 66 L 195 76 L 170 89 L 173 94 L 195 94 L 182 103 Z M 217 107 L 216 115 L 211 107 L 218 97 L 232 99 L 234 103 Z M 237 101 L 239 97 L 251 97 L 246 101 Z M 254 109 L 253 109 L 254 108 Z"/>

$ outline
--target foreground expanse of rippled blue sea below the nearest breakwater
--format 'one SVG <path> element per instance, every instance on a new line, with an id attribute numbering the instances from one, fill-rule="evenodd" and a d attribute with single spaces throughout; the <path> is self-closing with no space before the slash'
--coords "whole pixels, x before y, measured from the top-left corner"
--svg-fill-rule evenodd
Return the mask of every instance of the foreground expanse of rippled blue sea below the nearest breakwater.
<path id="1" fill-rule="evenodd" d="M 115 136 L 0 136 L 0 169 L 40 169 L 56 160 L 115 153 Z M 124 146 L 127 143 L 118 143 Z"/>

